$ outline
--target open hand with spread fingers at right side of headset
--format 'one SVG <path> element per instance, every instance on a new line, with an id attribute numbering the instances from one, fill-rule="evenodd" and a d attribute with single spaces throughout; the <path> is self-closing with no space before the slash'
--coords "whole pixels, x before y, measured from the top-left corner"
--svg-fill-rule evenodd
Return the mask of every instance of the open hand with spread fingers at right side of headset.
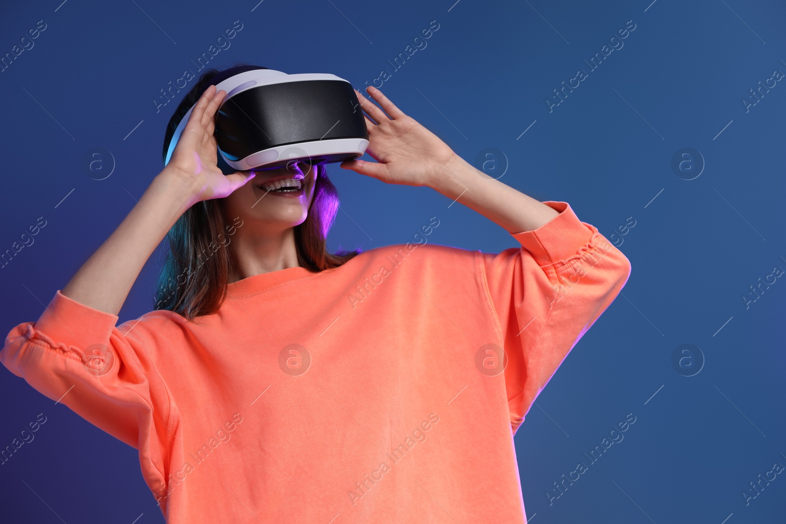
<path id="1" fill-rule="evenodd" d="M 360 107 L 368 113 L 363 115 L 365 126 L 369 129 L 369 146 L 365 152 L 376 163 L 347 160 L 340 164 L 341 167 L 387 184 L 433 187 L 436 178 L 446 175 L 443 168 L 457 157 L 453 149 L 415 119 L 405 115 L 376 87 L 369 86 L 369 93 L 385 111 L 358 90 L 355 93 L 361 102 Z"/>

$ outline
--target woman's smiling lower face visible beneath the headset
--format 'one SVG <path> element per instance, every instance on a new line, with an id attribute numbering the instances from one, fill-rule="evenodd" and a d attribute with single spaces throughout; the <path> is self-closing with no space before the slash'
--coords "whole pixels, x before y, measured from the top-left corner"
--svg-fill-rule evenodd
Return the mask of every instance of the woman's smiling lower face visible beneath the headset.
<path id="1" fill-rule="evenodd" d="M 253 224 L 255 230 L 263 229 L 276 234 L 306 220 L 314 198 L 317 166 L 293 161 L 285 167 L 251 171 L 255 173 L 254 178 L 222 199 L 227 223 L 240 217 L 244 224 Z M 301 185 L 297 191 L 268 189 L 271 182 L 291 183 L 293 179 Z"/>

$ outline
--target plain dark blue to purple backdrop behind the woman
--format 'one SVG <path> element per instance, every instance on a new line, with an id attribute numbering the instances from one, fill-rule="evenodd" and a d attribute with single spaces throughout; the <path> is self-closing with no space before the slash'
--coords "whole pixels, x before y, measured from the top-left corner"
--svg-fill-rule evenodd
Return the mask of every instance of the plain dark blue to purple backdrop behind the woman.
<path id="1" fill-rule="evenodd" d="M 164 126 L 179 98 L 158 113 L 152 101 L 185 69 L 197 72 L 191 60 L 240 20 L 212 67 L 330 72 L 361 90 L 387 69 L 383 92 L 463 158 L 498 148 L 498 167 L 508 163 L 501 181 L 567 201 L 582 221 L 623 241 L 630 280 L 516 434 L 530 519 L 784 522 L 786 476 L 747 506 L 741 493 L 774 463 L 786 465 L 784 279 L 748 309 L 742 299 L 774 266 L 786 269 L 786 86 L 777 82 L 749 112 L 741 99 L 775 69 L 786 72 L 786 7 L 651 1 L 4 5 L 0 54 L 38 20 L 46 30 L 0 72 L 0 251 L 37 218 L 47 223 L 0 269 L 0 331 L 35 321 L 134 206 L 161 169 Z M 387 60 L 432 20 L 439 30 L 428 46 L 395 71 Z M 583 60 L 628 20 L 636 29 L 624 47 L 549 113 L 545 97 L 589 70 Z M 116 161 L 105 180 L 83 171 L 94 147 Z M 706 161 L 693 180 L 671 168 L 684 147 Z M 487 252 L 517 245 L 432 189 L 385 185 L 337 165 L 329 173 L 342 197 L 332 249 L 405 243 L 435 215 L 432 243 Z M 629 217 L 634 228 L 612 238 Z M 158 262 L 145 266 L 121 322 L 152 309 Z M 706 359 L 696 376 L 671 364 L 683 343 Z M 35 441 L 0 466 L 3 522 L 163 522 L 134 449 L 5 368 L 0 374 L 0 447 L 40 412 L 47 417 Z M 623 442 L 549 505 L 553 482 L 628 413 L 637 419 Z"/>

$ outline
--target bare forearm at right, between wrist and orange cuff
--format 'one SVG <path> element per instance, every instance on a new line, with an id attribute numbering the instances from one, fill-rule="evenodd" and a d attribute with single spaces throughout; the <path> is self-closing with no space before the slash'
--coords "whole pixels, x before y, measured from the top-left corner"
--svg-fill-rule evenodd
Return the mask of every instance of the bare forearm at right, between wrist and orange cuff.
<path id="1" fill-rule="evenodd" d="M 429 185 L 451 200 L 483 214 L 509 233 L 538 229 L 559 214 L 545 203 L 477 170 L 458 155 Z"/>

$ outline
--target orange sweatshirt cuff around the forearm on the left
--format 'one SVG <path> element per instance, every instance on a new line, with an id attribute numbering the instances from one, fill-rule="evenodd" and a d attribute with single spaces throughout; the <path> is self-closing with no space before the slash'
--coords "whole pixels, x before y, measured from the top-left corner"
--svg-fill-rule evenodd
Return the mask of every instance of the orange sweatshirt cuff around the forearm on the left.
<path id="1" fill-rule="evenodd" d="M 118 317 L 69 299 L 58 289 L 49 306 L 35 322 L 35 329 L 67 346 L 84 350 L 106 343 Z"/>

